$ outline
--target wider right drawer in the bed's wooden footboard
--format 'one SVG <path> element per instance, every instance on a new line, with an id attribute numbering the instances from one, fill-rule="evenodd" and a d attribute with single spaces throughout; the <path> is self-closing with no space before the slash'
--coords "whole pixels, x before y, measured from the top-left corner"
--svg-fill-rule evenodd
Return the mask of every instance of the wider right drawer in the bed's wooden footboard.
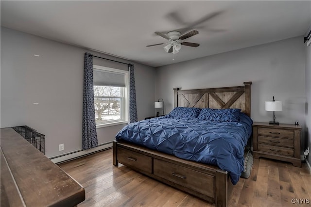
<path id="1" fill-rule="evenodd" d="M 154 175 L 191 190 L 214 197 L 214 176 L 207 175 L 170 162 L 154 159 Z"/>

